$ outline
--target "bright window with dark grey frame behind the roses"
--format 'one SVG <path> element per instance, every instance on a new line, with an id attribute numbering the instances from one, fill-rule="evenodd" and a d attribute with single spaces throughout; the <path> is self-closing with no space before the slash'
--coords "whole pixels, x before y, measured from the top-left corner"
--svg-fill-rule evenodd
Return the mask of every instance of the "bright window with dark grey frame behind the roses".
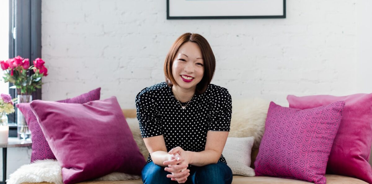
<path id="1" fill-rule="evenodd" d="M 16 37 L 13 37 L 13 30 Z M 41 0 L 0 0 L 0 60 L 18 55 L 29 58 L 31 62 L 41 58 Z M 0 79 L 3 75 L 1 70 Z M 12 98 L 15 98 L 16 90 L 9 89 L 12 85 L 1 80 L 0 93 L 10 93 Z M 41 89 L 32 93 L 32 99 L 41 99 Z M 17 111 L 8 115 L 10 137 L 17 136 L 16 116 Z"/>

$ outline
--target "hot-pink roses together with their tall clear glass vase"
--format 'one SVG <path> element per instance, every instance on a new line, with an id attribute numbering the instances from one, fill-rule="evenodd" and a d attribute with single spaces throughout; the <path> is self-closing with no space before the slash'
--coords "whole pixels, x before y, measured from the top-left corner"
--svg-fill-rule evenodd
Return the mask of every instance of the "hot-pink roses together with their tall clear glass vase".
<path id="1" fill-rule="evenodd" d="M 32 92 L 41 88 L 41 78 L 48 75 L 48 69 L 41 58 L 36 58 L 30 66 L 29 59 L 17 56 L 7 61 L 0 61 L 4 71 L 4 82 L 11 82 L 17 90 L 17 103 L 32 101 Z M 33 71 L 33 72 L 32 72 Z M 28 129 L 25 117 L 17 109 L 17 133 L 19 138 L 29 139 L 31 132 Z"/>

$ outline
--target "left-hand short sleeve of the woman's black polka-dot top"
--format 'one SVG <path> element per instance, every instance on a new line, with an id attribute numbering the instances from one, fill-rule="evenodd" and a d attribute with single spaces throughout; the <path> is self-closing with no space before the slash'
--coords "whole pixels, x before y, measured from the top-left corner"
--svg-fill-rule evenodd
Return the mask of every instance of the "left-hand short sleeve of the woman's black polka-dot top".
<path id="1" fill-rule="evenodd" d="M 142 138 L 162 135 L 152 93 L 148 88 L 142 89 L 135 99 Z"/>

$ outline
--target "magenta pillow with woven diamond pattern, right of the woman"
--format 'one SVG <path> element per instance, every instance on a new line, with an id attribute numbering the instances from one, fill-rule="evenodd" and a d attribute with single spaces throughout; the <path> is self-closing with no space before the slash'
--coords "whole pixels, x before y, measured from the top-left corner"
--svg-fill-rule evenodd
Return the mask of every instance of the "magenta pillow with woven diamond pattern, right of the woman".
<path id="1" fill-rule="evenodd" d="M 339 101 L 301 110 L 271 102 L 254 162 L 256 175 L 325 184 L 328 156 L 344 105 Z"/>

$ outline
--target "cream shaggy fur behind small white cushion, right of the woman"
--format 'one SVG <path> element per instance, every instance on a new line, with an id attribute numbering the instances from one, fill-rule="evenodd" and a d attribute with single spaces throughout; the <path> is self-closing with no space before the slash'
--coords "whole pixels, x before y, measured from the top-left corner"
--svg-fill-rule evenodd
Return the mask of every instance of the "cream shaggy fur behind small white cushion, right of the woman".
<path id="1" fill-rule="evenodd" d="M 260 98 L 233 99 L 229 137 L 254 137 L 253 149 L 260 146 L 270 102 Z"/>

